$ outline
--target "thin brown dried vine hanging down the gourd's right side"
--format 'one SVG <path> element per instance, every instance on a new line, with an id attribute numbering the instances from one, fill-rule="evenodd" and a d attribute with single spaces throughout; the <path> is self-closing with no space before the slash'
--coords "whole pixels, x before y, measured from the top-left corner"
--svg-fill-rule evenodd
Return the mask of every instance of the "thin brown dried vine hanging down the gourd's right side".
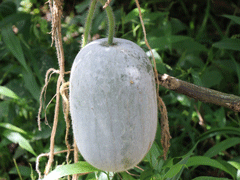
<path id="1" fill-rule="evenodd" d="M 148 43 L 147 40 L 147 34 L 146 34 L 146 30 L 145 30 L 145 26 L 143 23 L 143 19 L 142 19 L 142 13 L 141 13 L 141 8 L 139 5 L 138 0 L 135 0 L 138 11 L 139 11 L 139 18 L 141 21 L 141 25 L 142 25 L 142 29 L 143 29 L 143 34 L 144 34 L 144 40 L 145 40 L 145 44 L 147 45 L 148 49 L 151 52 L 152 55 L 152 59 L 153 59 L 153 63 L 154 63 L 154 75 L 155 75 L 155 80 L 157 82 L 157 99 L 158 99 L 158 109 L 161 112 L 161 144 L 163 147 L 163 158 L 164 160 L 167 159 L 167 152 L 168 149 L 170 147 L 170 139 L 171 139 L 171 135 L 170 135 L 170 131 L 169 131 L 169 125 L 168 125 L 168 115 L 167 115 L 167 108 L 162 100 L 162 98 L 159 96 L 159 80 L 158 80 L 158 72 L 157 72 L 157 68 L 156 68 L 156 61 L 155 61 L 155 57 L 153 55 L 152 49 Z"/>

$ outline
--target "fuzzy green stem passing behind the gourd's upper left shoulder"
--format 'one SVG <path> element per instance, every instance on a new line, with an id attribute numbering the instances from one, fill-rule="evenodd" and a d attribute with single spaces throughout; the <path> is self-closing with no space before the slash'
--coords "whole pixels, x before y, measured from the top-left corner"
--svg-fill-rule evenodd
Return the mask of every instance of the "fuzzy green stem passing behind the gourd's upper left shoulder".
<path id="1" fill-rule="evenodd" d="M 87 20 L 85 23 L 85 30 L 84 30 L 84 34 L 83 34 L 82 47 L 86 46 L 86 44 L 88 42 L 88 34 L 90 32 L 94 9 L 95 9 L 96 4 L 97 4 L 97 0 L 92 0 L 91 4 L 89 6 L 88 16 L 87 16 Z"/>

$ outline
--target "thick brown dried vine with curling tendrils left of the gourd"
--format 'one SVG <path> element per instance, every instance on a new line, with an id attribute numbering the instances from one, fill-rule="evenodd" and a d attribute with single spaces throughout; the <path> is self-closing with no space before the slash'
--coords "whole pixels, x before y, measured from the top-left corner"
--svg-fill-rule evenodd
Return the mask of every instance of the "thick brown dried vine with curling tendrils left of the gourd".
<path id="1" fill-rule="evenodd" d="M 57 129 L 57 124 L 58 124 L 58 115 L 59 115 L 59 107 L 60 107 L 60 87 L 62 84 L 64 84 L 64 74 L 65 74 L 65 67 L 64 67 L 64 52 L 63 52 L 63 47 L 62 47 L 62 34 L 61 34 L 61 17 L 62 17 L 62 0 L 48 0 L 49 3 L 49 8 L 50 12 L 52 15 L 52 45 L 55 43 L 56 51 L 57 51 L 57 58 L 58 58 L 58 64 L 59 64 L 59 70 L 54 70 L 54 69 L 49 69 L 46 74 L 45 78 L 45 85 L 43 87 L 43 90 L 41 92 L 40 96 L 40 108 L 39 108 L 39 114 L 38 114 L 38 126 L 39 129 L 41 130 L 40 126 L 40 115 L 41 115 L 41 110 L 42 110 L 42 95 L 45 93 L 46 96 L 46 88 L 49 83 L 49 79 L 52 75 L 52 73 L 57 72 L 59 73 L 59 77 L 57 80 L 57 87 L 56 87 L 56 105 L 55 105 L 55 111 L 54 111 L 54 120 L 53 120 L 53 126 L 52 126 L 52 132 L 51 132 L 51 138 L 50 138 L 50 152 L 48 153 L 48 163 L 45 167 L 45 172 L 44 174 L 47 175 L 50 171 L 50 168 L 52 166 L 52 162 L 54 160 L 54 144 L 55 144 L 55 135 L 56 135 L 56 129 Z M 50 77 L 48 78 L 50 74 Z M 65 94 L 67 96 L 66 90 L 62 92 L 62 94 Z M 45 97 L 44 96 L 44 97 Z M 65 97 L 64 96 L 64 97 Z M 64 117 L 66 119 L 66 124 L 69 129 L 69 120 L 68 120 L 68 102 L 63 101 L 63 111 L 64 111 Z M 67 130 L 68 131 L 68 130 Z M 70 152 L 70 145 L 68 142 L 67 144 L 67 163 L 68 163 L 68 156 Z M 36 164 L 38 164 L 38 159 Z"/>

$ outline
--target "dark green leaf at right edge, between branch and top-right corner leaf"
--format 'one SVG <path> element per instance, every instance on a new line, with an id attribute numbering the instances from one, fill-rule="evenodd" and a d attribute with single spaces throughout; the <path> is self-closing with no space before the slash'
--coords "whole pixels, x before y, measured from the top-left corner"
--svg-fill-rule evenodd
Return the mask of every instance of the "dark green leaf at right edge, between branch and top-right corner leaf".
<path id="1" fill-rule="evenodd" d="M 212 46 L 219 49 L 240 51 L 240 39 L 223 39 Z"/>

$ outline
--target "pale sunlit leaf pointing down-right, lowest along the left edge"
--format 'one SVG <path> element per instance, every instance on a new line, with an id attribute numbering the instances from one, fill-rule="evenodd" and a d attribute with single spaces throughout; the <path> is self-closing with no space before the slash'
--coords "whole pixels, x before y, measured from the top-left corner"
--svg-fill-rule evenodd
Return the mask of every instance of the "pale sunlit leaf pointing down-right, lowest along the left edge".
<path id="1" fill-rule="evenodd" d="M 32 153 L 33 155 L 37 156 L 37 154 L 34 152 L 32 146 L 29 144 L 28 140 L 24 138 L 21 134 L 18 132 L 12 132 L 10 130 L 3 131 L 3 136 L 6 137 L 8 140 L 18 143 L 19 146 L 28 152 Z"/>

